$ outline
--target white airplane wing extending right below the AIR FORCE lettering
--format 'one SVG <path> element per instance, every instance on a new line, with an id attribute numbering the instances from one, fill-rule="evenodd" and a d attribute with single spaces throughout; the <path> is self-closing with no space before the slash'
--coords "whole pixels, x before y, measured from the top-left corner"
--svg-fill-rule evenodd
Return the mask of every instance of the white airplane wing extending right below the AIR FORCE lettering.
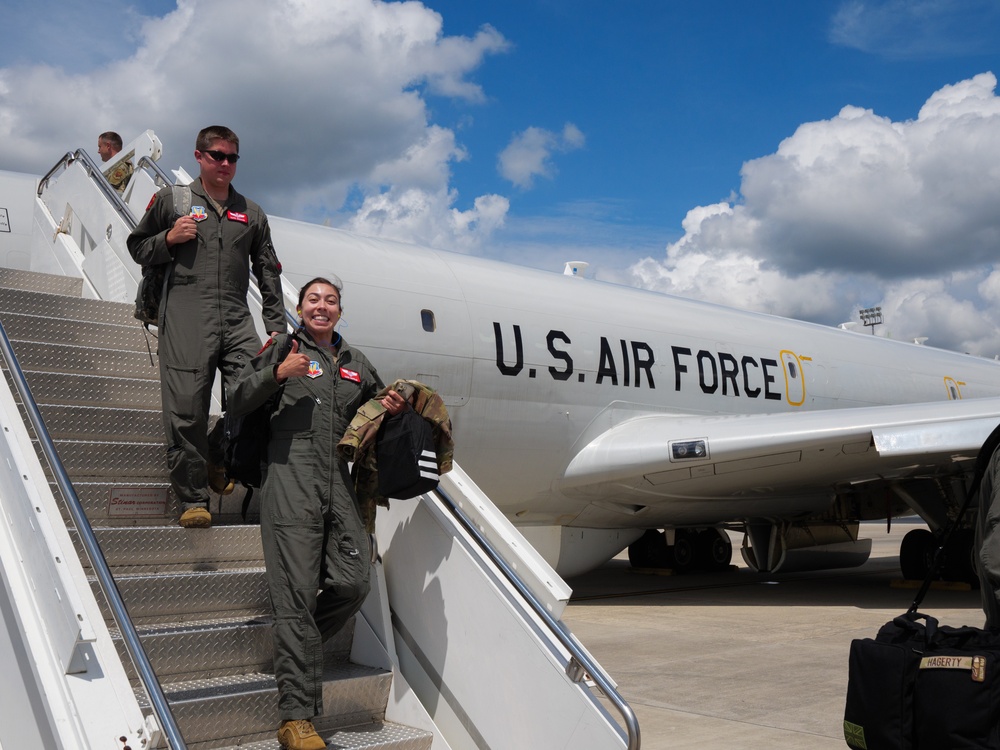
<path id="1" fill-rule="evenodd" d="M 674 507 L 677 522 L 685 513 L 710 522 L 803 512 L 810 510 L 804 501 L 810 496 L 819 511 L 850 486 L 968 471 L 998 423 L 998 398 L 739 416 L 643 415 L 580 450 L 560 489 L 604 502 Z M 663 520 L 671 520 L 669 510 Z"/>

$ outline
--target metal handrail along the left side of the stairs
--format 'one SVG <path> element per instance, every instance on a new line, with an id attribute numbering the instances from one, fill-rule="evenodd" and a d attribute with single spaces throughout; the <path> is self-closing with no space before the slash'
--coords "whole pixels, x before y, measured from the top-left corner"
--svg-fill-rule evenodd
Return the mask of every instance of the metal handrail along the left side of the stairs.
<path id="1" fill-rule="evenodd" d="M 67 154 L 67 156 L 72 156 L 72 154 Z M 112 192 L 114 191 L 112 190 Z M 117 197 L 117 193 L 115 197 Z M 56 483 L 59 485 L 59 490 L 62 492 L 66 506 L 73 517 L 73 522 L 76 524 L 80 540 L 87 554 L 90 556 L 90 562 L 94 568 L 94 572 L 97 574 L 101 589 L 107 597 L 112 615 L 115 618 L 118 628 L 121 630 L 125 648 L 139 672 L 139 679 L 142 681 L 146 694 L 149 696 L 153 711 L 160 722 L 161 729 L 166 735 L 167 742 L 173 750 L 187 750 L 187 745 L 184 743 L 180 729 L 177 726 L 177 721 L 174 719 L 173 712 L 167 703 L 163 688 L 160 686 L 160 681 L 157 679 L 155 672 L 153 672 L 153 667 L 149 662 L 149 657 L 146 655 L 145 649 L 142 647 L 135 625 L 132 623 L 131 617 L 129 617 L 128 609 L 125 607 L 121 592 L 118 591 L 115 579 L 111 575 L 108 562 L 101 551 L 101 546 L 94 535 L 94 530 L 90 526 L 90 521 L 86 513 L 84 513 L 80 498 L 77 496 L 76 490 L 73 489 L 73 483 L 70 481 L 69 475 L 66 473 L 66 469 L 59 458 L 55 443 L 52 441 L 52 437 L 45 427 L 45 421 L 42 419 L 42 414 L 38 410 L 38 404 L 31 394 L 31 388 L 28 387 L 24 371 L 21 369 L 21 365 L 14 355 L 14 349 L 11 346 L 10 338 L 7 336 L 7 330 L 4 328 L 3 323 L 0 323 L 0 353 L 3 354 L 3 358 L 7 363 L 7 370 L 14 380 L 14 385 L 21 397 L 21 402 L 28 414 L 28 419 L 31 421 L 31 425 L 38 437 L 38 443 L 45 453 L 45 458 L 49 462 Z"/>

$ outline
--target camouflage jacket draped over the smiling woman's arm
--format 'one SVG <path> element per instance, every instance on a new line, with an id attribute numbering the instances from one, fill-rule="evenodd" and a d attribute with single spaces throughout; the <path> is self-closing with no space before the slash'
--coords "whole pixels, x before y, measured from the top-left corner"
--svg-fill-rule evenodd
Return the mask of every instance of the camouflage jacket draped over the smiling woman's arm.
<path id="1" fill-rule="evenodd" d="M 361 503 L 361 518 L 368 533 L 375 531 L 375 506 L 389 507 L 389 499 L 378 491 L 378 465 L 375 460 L 375 437 L 386 411 L 381 399 L 389 390 L 399 391 L 417 413 L 431 423 L 434 450 L 437 453 L 438 473 L 451 471 L 455 443 L 451 437 L 451 418 L 444 401 L 431 388 L 416 380 L 394 380 L 375 397 L 358 409 L 344 437 L 337 444 L 337 454 L 345 461 L 353 461 L 351 474 L 354 490 Z"/>

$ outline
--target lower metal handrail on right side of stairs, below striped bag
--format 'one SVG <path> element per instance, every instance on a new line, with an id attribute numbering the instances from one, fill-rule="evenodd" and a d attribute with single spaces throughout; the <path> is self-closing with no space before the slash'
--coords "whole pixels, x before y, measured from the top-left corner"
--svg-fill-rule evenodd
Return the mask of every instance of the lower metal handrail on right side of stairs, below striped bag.
<path id="1" fill-rule="evenodd" d="M 503 555 L 497 550 L 489 539 L 479 530 L 476 524 L 469 518 L 468 514 L 462 510 L 461 506 L 451 495 L 441 486 L 434 491 L 445 501 L 445 505 L 458 522 L 465 528 L 469 535 L 482 548 L 486 555 L 493 561 L 504 577 L 514 588 L 524 597 L 525 601 L 535 612 L 535 614 L 545 623 L 552 634 L 559 640 L 563 647 L 569 651 L 571 659 L 566 665 L 566 675 L 573 682 L 582 682 L 585 677 L 590 677 L 601 689 L 612 705 L 618 710 L 625 721 L 625 728 L 628 732 L 628 750 L 639 750 L 639 722 L 635 712 L 628 702 L 622 698 L 621 694 L 611 682 L 611 678 L 594 659 L 588 654 L 573 638 L 566 626 L 554 618 L 544 604 L 531 591 L 526 583 L 521 580 L 517 571 L 510 566 Z"/>

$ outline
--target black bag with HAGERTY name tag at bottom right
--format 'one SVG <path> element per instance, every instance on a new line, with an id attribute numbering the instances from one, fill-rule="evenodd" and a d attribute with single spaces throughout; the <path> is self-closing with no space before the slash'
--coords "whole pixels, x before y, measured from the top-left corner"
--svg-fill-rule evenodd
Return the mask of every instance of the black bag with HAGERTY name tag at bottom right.
<path id="1" fill-rule="evenodd" d="M 1000 633 L 907 612 L 853 641 L 844 738 L 858 750 L 1000 748 Z"/>

